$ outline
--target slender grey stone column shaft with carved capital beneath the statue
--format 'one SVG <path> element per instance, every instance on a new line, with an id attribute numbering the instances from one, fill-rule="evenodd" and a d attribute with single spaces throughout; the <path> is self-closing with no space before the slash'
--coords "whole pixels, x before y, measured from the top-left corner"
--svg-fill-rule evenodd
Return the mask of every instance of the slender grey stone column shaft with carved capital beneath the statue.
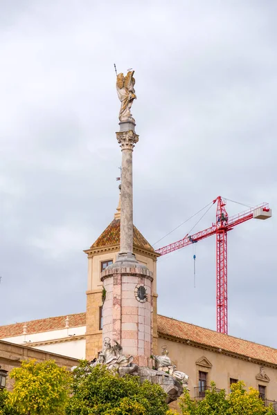
<path id="1" fill-rule="evenodd" d="M 126 125 L 127 124 L 127 125 Z M 125 131 L 126 128 L 132 127 Z M 139 136 L 134 132 L 134 124 L 121 122 L 116 138 L 122 151 L 121 171 L 121 217 L 120 217 L 120 257 L 133 254 L 133 149 Z M 134 256 L 134 255 L 133 255 Z"/>

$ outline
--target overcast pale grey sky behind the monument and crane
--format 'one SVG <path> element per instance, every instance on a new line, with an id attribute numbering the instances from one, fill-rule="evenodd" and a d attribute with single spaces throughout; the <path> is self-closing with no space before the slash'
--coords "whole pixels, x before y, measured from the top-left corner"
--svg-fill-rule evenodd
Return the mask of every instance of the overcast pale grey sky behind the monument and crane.
<path id="1" fill-rule="evenodd" d="M 134 223 L 150 243 L 218 195 L 275 214 L 276 13 L 276 0 L 1 1 L 0 324 L 85 311 L 82 250 L 118 203 L 114 62 L 136 71 Z M 213 221 L 215 206 L 193 232 Z M 273 216 L 229 232 L 228 278 L 229 334 L 277 348 L 276 231 Z M 159 313 L 215 329 L 215 237 L 159 259 L 157 278 Z"/>

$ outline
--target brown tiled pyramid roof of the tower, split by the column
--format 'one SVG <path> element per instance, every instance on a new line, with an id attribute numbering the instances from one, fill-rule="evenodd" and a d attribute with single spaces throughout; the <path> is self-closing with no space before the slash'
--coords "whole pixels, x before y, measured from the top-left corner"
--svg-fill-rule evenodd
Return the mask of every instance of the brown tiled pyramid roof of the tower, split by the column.
<path id="1" fill-rule="evenodd" d="M 133 225 L 134 226 L 134 225 Z M 120 243 L 120 219 L 114 219 L 109 226 L 100 234 L 100 237 L 91 245 L 91 249 L 103 246 L 119 245 Z M 155 252 L 154 248 L 146 241 L 145 237 L 134 226 L 134 247 Z"/>

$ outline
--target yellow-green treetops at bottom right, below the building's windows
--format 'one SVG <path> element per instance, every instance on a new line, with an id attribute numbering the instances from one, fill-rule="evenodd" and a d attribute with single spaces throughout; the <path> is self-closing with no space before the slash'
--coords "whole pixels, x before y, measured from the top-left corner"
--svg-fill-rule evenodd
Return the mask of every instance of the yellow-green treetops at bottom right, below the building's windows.
<path id="1" fill-rule="evenodd" d="M 206 391 L 205 398 L 200 401 L 191 400 L 188 391 L 180 398 L 183 415 L 274 415 L 272 407 L 266 408 L 256 389 L 244 389 L 244 383 L 231 385 L 231 393 L 226 396 L 225 390 L 218 391 L 215 383 Z"/>

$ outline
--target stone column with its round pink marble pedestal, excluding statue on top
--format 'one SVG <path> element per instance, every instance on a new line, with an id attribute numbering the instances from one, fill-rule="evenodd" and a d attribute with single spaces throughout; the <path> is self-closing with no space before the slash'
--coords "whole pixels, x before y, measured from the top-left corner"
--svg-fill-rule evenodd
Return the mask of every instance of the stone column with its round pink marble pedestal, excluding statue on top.
<path id="1" fill-rule="evenodd" d="M 122 151 L 120 252 L 101 275 L 106 299 L 103 304 L 103 339 L 116 340 L 134 362 L 148 366 L 152 354 L 152 273 L 133 253 L 134 145 L 139 141 L 134 122 L 120 122 L 116 138 Z"/>

